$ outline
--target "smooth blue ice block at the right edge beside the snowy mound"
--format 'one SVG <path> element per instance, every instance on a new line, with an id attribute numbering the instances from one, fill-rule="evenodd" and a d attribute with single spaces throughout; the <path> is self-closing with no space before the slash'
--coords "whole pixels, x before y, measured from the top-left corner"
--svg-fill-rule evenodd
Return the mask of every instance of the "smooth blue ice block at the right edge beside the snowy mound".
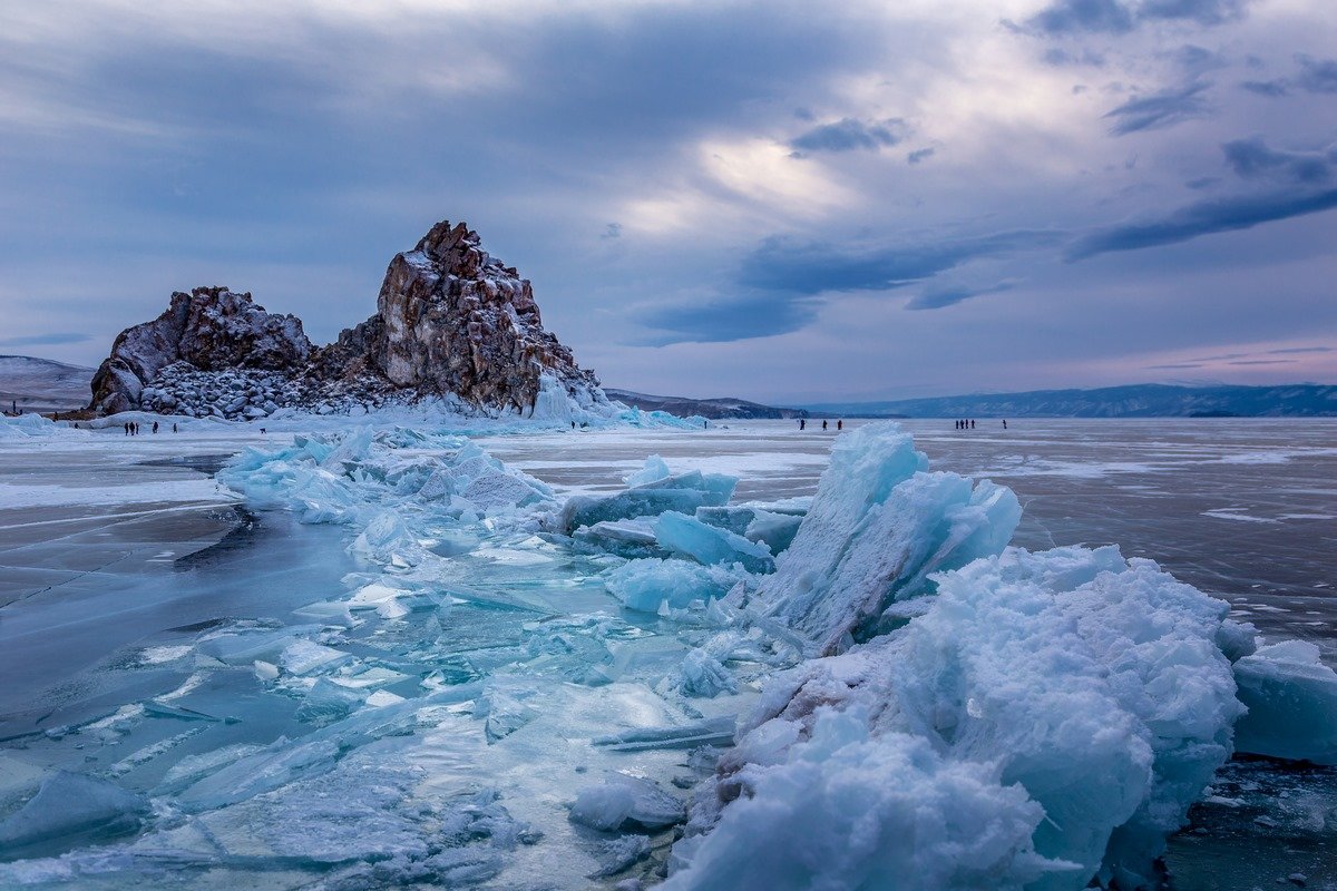
<path id="1" fill-rule="evenodd" d="M 1239 701 L 1235 751 L 1337 764 L 1337 672 L 1301 640 L 1259 647 L 1235 663 Z"/>

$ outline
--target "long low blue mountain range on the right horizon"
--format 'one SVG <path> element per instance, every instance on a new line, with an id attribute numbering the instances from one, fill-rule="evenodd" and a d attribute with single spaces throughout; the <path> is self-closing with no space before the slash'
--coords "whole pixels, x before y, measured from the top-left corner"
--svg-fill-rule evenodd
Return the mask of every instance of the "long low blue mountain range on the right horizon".
<path id="1" fill-rule="evenodd" d="M 1163 418 L 1334 417 L 1337 386 L 1170 386 L 1136 383 L 1096 390 L 1031 390 L 888 402 L 809 405 L 814 415 L 846 418 Z"/>

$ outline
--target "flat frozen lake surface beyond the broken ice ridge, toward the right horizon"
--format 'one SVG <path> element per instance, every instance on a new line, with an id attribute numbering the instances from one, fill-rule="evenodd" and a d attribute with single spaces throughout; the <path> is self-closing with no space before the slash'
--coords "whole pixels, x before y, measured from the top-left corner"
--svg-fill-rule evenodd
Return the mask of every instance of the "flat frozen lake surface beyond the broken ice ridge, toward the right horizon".
<path id="1" fill-rule="evenodd" d="M 721 423 L 726 427 L 721 429 Z M 853 421 L 846 426 L 858 426 Z M 936 470 L 988 477 L 1025 506 L 1013 544 L 1118 544 L 1239 617 L 1337 656 L 1337 419 L 902 421 Z M 739 498 L 812 494 L 832 430 L 719 422 L 702 431 L 484 439 L 499 458 L 579 492 L 607 492 L 647 452 L 742 477 Z"/>

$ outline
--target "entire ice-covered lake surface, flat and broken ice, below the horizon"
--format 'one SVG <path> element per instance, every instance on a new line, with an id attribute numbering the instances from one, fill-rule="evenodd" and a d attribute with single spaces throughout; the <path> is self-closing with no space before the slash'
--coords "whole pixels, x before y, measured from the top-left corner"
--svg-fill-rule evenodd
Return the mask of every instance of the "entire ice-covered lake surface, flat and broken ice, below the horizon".
<path id="1" fill-rule="evenodd" d="M 1328 644 L 1300 561 L 1074 546 L 1312 534 L 1322 430 L 294 425 L 11 425 L 0 887 L 1128 887 L 1186 820 L 1181 882 L 1337 882 L 1330 771 L 1211 779 L 1337 760 L 1235 621 Z"/>

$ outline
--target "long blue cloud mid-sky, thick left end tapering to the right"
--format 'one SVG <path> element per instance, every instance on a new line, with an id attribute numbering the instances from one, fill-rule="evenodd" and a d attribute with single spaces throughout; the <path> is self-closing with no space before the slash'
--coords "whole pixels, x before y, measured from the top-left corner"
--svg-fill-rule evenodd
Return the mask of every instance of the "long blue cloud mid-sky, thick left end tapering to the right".
<path id="1" fill-rule="evenodd" d="M 783 294 L 882 291 L 955 269 L 981 256 L 1046 247 L 1058 232 L 1017 230 L 919 244 L 848 247 L 771 236 L 742 263 L 738 285 Z"/>

